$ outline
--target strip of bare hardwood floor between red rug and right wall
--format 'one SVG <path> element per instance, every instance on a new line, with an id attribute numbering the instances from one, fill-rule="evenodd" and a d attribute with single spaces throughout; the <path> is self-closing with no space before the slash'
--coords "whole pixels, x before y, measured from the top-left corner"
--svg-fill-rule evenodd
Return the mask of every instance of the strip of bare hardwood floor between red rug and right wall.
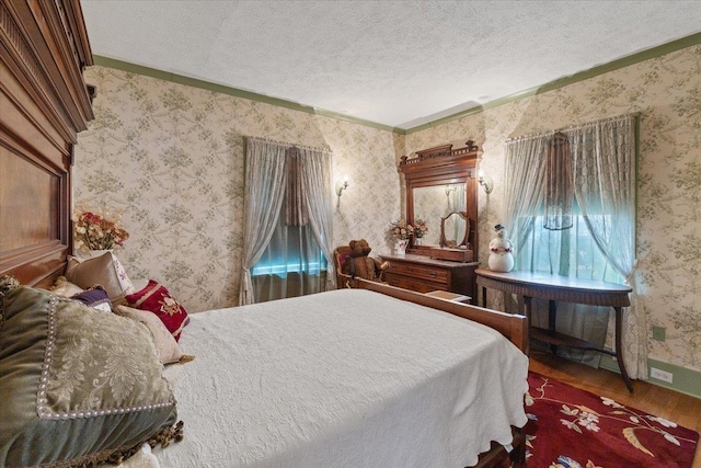
<path id="1" fill-rule="evenodd" d="M 629 393 L 619 374 L 595 369 L 550 353 L 531 351 L 530 369 L 556 378 L 573 387 L 611 398 L 621 404 L 647 411 L 701 432 L 701 399 L 689 397 L 642 380 L 633 380 L 633 395 Z M 701 468 L 701 449 L 697 446 L 692 468 Z"/>

